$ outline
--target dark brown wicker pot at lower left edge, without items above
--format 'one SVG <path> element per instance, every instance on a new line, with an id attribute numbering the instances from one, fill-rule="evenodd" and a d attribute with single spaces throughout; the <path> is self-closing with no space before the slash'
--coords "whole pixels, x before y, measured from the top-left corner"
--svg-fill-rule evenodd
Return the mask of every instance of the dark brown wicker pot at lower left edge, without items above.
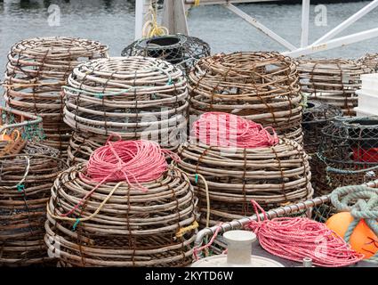
<path id="1" fill-rule="evenodd" d="M 64 168 L 59 151 L 28 142 L 0 158 L 0 265 L 50 264 L 44 245 L 46 203 Z"/>

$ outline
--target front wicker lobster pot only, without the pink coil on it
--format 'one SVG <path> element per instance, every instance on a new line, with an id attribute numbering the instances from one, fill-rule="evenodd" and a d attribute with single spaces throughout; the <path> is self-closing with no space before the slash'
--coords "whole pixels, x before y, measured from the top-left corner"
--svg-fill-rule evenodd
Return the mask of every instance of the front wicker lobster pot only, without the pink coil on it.
<path id="1" fill-rule="evenodd" d="M 84 175 L 81 175 L 84 174 Z M 81 221 L 62 220 L 62 214 L 98 183 L 85 176 L 82 164 L 63 172 L 52 187 L 45 224 L 45 242 L 58 252 L 63 266 L 185 266 L 192 260 L 194 230 L 181 229 L 196 221 L 193 188 L 178 168 L 169 167 L 156 181 L 142 183 L 148 191 L 126 183 L 102 184 L 75 215 Z M 111 194 L 112 190 L 114 191 Z"/>

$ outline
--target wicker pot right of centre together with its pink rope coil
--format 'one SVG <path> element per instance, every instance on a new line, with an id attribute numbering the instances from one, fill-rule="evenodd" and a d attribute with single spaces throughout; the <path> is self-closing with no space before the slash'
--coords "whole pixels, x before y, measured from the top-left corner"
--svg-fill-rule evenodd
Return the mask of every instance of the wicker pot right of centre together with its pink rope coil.
<path id="1" fill-rule="evenodd" d="M 201 225 L 252 216 L 262 208 L 310 199 L 309 157 L 302 146 L 245 118 L 204 113 L 181 144 L 178 166 L 190 174 L 199 199 Z"/>

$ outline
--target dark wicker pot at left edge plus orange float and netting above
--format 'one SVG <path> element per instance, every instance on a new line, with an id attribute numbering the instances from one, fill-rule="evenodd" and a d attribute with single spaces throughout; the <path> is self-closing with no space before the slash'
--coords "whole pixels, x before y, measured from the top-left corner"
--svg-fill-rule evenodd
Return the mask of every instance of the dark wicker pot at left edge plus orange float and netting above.
<path id="1" fill-rule="evenodd" d="M 44 245 L 46 203 L 65 164 L 58 150 L 36 142 L 42 118 L 1 111 L 0 265 L 51 264 Z"/>

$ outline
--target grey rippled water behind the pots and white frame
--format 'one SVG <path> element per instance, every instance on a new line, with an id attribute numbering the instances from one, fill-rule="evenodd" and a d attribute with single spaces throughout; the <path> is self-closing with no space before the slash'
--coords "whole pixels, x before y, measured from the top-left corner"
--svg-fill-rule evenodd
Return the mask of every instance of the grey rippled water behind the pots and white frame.
<path id="1" fill-rule="evenodd" d="M 327 27 L 315 25 L 315 5 L 310 8 L 310 41 L 315 41 L 348 16 L 357 12 L 367 1 L 343 4 L 326 4 Z M 60 26 L 48 25 L 50 4 L 60 6 Z M 9 48 L 28 37 L 71 36 L 96 39 L 110 47 L 110 55 L 119 56 L 125 45 L 133 41 L 134 1 L 126 0 L 4 0 L 0 1 L 0 80 Z M 300 44 L 301 4 L 239 4 L 278 35 L 294 45 Z M 276 42 L 265 37 L 250 24 L 229 12 L 221 5 L 199 6 L 188 16 L 190 35 L 208 42 L 213 53 L 233 51 L 283 51 Z M 378 27 L 378 8 L 342 32 L 348 35 L 367 28 Z M 378 38 L 345 46 L 322 57 L 356 58 L 364 53 L 378 52 Z"/>

